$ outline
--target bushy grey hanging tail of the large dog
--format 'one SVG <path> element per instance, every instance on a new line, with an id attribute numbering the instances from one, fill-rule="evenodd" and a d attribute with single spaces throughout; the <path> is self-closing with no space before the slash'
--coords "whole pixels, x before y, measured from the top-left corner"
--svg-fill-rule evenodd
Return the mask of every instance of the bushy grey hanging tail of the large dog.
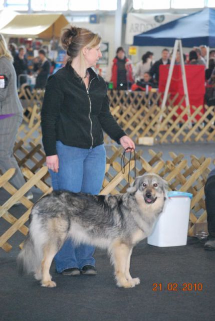
<path id="1" fill-rule="evenodd" d="M 36 240 L 34 234 L 30 230 L 24 242 L 23 249 L 17 257 L 17 265 L 20 274 L 36 273 L 41 266 L 43 258 L 43 244 L 40 239 Z"/>

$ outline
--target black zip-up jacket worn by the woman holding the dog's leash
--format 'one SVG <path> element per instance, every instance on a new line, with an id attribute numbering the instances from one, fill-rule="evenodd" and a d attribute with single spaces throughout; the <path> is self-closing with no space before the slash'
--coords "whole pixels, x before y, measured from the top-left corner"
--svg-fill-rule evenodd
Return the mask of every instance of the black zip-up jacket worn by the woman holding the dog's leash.
<path id="1" fill-rule="evenodd" d="M 50 76 L 41 111 L 46 155 L 57 154 L 56 141 L 80 148 L 103 143 L 102 129 L 115 141 L 125 135 L 109 110 L 104 79 L 91 68 L 88 90 L 70 64 Z"/>

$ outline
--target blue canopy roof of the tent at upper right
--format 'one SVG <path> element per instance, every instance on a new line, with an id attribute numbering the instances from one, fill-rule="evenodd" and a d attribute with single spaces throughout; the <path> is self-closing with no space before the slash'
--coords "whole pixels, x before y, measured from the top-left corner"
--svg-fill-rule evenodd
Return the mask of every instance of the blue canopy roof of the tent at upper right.
<path id="1" fill-rule="evenodd" d="M 181 39 L 184 47 L 215 47 L 215 10 L 205 8 L 134 36 L 134 46 L 173 47 Z"/>

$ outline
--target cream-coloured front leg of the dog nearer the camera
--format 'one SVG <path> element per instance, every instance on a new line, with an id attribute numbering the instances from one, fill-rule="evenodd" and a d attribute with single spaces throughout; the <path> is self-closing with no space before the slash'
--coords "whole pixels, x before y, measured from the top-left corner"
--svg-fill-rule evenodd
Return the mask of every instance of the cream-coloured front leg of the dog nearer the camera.
<path id="1" fill-rule="evenodd" d="M 120 287 L 134 287 L 135 283 L 131 279 L 127 279 L 126 272 L 126 264 L 129 258 L 129 254 L 131 252 L 131 248 L 129 248 L 126 244 L 116 242 L 112 246 L 111 254 L 112 260 L 114 263 L 115 269 L 115 277 L 117 281 L 117 285 Z"/>

